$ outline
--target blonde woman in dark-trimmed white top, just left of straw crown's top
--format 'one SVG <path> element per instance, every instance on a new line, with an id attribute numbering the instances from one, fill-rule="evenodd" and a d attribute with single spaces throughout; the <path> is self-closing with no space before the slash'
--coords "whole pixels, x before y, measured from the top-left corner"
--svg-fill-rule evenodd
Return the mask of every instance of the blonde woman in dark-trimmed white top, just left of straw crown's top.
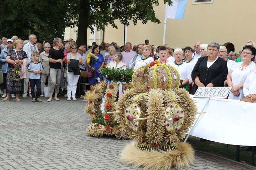
<path id="1" fill-rule="evenodd" d="M 134 70 L 136 70 L 140 66 L 146 65 L 147 63 L 154 61 L 154 58 L 150 56 L 151 51 L 152 48 L 150 45 L 144 45 L 142 47 L 142 57 L 136 60 L 136 63 L 133 68 Z"/>

